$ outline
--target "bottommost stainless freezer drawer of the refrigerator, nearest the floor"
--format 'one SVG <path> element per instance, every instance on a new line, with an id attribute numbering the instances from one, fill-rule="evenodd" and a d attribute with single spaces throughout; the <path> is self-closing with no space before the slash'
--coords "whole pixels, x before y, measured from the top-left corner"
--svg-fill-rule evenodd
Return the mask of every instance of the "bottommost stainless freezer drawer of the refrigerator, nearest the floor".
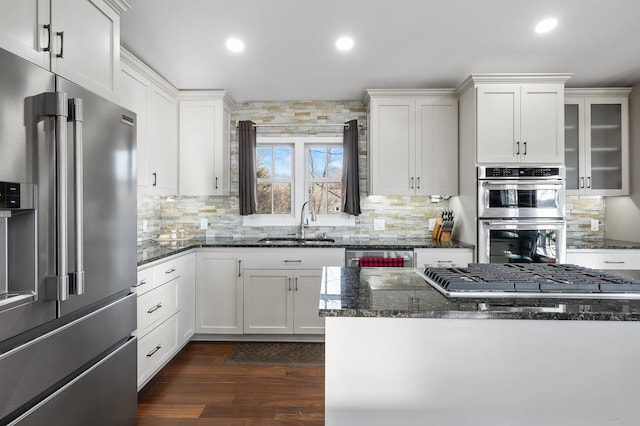
<path id="1" fill-rule="evenodd" d="M 135 425 L 136 345 L 130 339 L 10 425 Z"/>

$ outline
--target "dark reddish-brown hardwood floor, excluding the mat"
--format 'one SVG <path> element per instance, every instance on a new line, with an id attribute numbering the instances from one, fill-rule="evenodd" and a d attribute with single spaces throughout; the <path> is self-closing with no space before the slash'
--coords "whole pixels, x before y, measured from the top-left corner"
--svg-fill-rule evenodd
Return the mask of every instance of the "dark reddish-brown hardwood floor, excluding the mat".
<path id="1" fill-rule="evenodd" d="M 224 365 L 234 343 L 189 343 L 138 393 L 138 425 L 323 425 L 324 367 Z"/>

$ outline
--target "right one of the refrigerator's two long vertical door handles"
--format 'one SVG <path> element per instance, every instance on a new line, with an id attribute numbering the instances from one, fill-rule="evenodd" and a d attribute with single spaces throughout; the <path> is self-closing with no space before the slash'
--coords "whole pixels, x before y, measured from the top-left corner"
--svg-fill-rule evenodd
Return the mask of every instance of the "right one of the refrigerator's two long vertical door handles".
<path id="1" fill-rule="evenodd" d="M 70 274 L 69 293 L 84 294 L 84 187 L 83 187 L 83 159 L 82 159 L 82 99 L 69 99 L 69 116 L 67 120 L 73 123 L 73 200 L 75 213 L 75 260 L 74 271 Z"/>

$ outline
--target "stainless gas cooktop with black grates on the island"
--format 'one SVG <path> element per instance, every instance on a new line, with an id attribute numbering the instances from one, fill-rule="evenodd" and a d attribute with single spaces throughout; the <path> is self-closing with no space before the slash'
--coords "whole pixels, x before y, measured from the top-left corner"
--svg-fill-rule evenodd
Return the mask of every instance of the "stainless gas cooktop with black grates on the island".
<path id="1" fill-rule="evenodd" d="M 640 299 L 640 280 L 576 265 L 473 263 L 421 276 L 451 298 Z"/>

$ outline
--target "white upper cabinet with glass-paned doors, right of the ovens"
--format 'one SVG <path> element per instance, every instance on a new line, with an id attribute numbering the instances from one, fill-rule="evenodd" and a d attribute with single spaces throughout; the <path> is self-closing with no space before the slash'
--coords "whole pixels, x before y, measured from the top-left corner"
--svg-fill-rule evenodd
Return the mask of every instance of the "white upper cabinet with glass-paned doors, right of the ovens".
<path id="1" fill-rule="evenodd" d="M 568 195 L 629 195 L 631 88 L 566 89 Z"/>

